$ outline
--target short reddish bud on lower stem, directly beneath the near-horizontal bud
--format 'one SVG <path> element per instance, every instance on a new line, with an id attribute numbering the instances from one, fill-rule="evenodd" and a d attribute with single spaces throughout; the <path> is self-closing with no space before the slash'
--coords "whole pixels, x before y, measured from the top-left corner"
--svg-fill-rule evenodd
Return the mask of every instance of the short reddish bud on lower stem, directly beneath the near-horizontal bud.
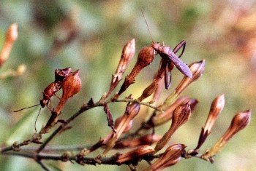
<path id="1" fill-rule="evenodd" d="M 143 156 L 146 156 L 147 154 L 151 154 L 153 151 L 154 151 L 154 148 L 152 148 L 151 146 L 140 146 L 139 148 L 129 151 L 126 154 L 121 154 L 120 156 L 118 156 L 118 159 L 116 162 L 118 163 L 130 162 L 134 159 L 140 159 Z"/>

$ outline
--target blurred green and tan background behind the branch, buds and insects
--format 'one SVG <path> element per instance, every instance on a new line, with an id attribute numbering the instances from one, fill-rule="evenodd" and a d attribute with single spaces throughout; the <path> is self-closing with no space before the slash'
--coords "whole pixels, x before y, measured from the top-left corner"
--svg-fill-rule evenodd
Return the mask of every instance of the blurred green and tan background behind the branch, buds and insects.
<path id="1" fill-rule="evenodd" d="M 42 90 L 54 79 L 56 68 L 80 70 L 82 90 L 69 100 L 61 117 L 66 119 L 90 98 L 98 100 L 108 90 L 111 74 L 116 70 L 121 49 L 135 38 L 136 54 L 151 43 L 141 10 L 146 16 L 155 41 L 165 41 L 175 47 L 187 41 L 182 60 L 192 63 L 206 59 L 203 76 L 182 95 L 200 101 L 192 118 L 173 136 L 170 143 L 185 143 L 194 148 L 208 115 L 211 101 L 225 93 L 225 108 L 211 136 L 202 149 L 211 148 L 225 132 L 237 111 L 252 108 L 249 127 L 238 132 L 224 150 L 215 156 L 214 164 L 201 159 L 182 159 L 173 170 L 255 170 L 256 136 L 256 4 L 253 0 L 230 1 L 0 1 L 0 44 L 11 23 L 18 23 L 19 37 L 10 59 L 0 68 L 0 74 L 25 64 L 22 76 L 0 79 L 0 144 L 30 138 L 38 108 L 18 114 L 12 111 L 37 104 Z M 0 45 L 1 47 L 1 45 Z M 131 71 L 135 60 L 129 65 Z M 159 65 L 159 57 L 144 69 L 124 95 L 137 98 L 150 84 Z M 173 84 L 162 99 L 170 94 L 182 79 L 173 71 Z M 117 91 L 117 90 L 116 90 Z M 61 94 L 59 94 L 61 95 Z M 53 106 L 58 99 L 53 100 Z M 113 117 L 122 114 L 125 104 L 110 106 Z M 146 108 L 142 109 L 146 111 Z M 50 116 L 42 110 L 37 128 Z M 140 114 L 135 127 L 145 119 Z M 50 145 L 89 145 L 110 129 L 101 109 L 93 109 L 72 122 L 72 130 L 64 132 Z M 162 134 L 170 123 L 160 127 Z M 101 151 L 97 151 L 97 156 Z M 121 151 L 119 151 L 121 152 Z M 86 166 L 70 162 L 45 162 L 62 170 L 129 170 L 127 166 Z M 146 167 L 146 163 L 141 168 Z M 51 167 L 53 168 L 53 167 Z M 39 170 L 31 159 L 0 156 L 0 170 Z"/>

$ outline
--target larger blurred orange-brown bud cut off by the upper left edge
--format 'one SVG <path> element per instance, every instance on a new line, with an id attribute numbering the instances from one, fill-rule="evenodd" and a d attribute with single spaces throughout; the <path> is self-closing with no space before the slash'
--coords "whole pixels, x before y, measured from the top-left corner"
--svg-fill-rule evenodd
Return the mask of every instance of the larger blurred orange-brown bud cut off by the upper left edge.
<path id="1" fill-rule="evenodd" d="M 4 62 L 8 59 L 10 56 L 10 52 L 12 50 L 12 45 L 18 38 L 18 24 L 13 23 L 10 25 L 8 28 L 6 35 L 5 35 L 5 40 L 4 40 L 4 45 L 1 48 L 1 53 L 0 53 L 0 66 L 4 64 Z"/>

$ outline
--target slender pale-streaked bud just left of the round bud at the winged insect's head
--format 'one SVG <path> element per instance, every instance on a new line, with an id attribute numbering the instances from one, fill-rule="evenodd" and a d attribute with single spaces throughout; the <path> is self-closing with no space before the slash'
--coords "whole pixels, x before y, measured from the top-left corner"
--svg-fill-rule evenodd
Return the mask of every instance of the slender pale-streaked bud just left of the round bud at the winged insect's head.
<path id="1" fill-rule="evenodd" d="M 116 73 L 112 76 L 112 81 L 110 84 L 110 89 L 108 90 L 107 97 L 116 88 L 119 81 L 126 71 L 129 62 L 135 54 L 135 39 L 132 39 L 125 44 L 124 49 L 121 54 L 121 59 L 119 60 L 118 67 L 116 68 Z"/>

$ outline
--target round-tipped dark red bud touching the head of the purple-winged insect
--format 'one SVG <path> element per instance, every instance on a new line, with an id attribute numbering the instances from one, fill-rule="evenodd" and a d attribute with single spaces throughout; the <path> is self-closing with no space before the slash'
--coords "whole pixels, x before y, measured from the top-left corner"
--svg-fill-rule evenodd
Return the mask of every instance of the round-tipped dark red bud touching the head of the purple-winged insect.
<path id="1" fill-rule="evenodd" d="M 152 47 L 143 47 L 143 49 L 140 50 L 138 60 L 135 63 L 134 68 L 132 69 L 131 73 L 125 77 L 124 83 L 121 85 L 118 94 L 113 98 L 113 100 L 116 100 L 121 93 L 127 90 L 130 84 L 135 82 L 135 77 L 138 75 L 138 73 L 140 73 L 140 71 L 147 65 L 152 63 L 154 60 L 154 55 L 155 51 Z"/>

